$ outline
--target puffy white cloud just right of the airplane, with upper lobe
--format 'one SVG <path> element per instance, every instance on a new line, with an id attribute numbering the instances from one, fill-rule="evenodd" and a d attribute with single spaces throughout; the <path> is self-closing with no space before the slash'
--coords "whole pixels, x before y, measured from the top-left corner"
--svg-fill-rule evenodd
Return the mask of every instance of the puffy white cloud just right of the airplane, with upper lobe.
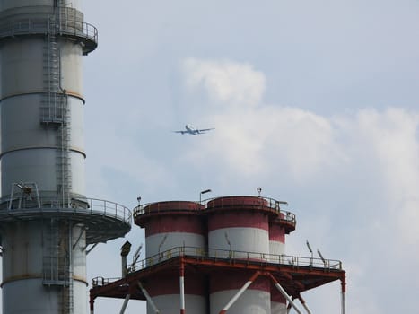
<path id="1" fill-rule="evenodd" d="M 276 170 L 303 180 L 343 158 L 336 155 L 327 118 L 302 109 L 262 106 L 266 78 L 250 65 L 188 58 L 184 72 L 190 89 L 204 88 L 210 100 L 224 104 L 208 118 L 219 135 L 191 152 L 192 161 L 210 155 L 246 175 Z"/>

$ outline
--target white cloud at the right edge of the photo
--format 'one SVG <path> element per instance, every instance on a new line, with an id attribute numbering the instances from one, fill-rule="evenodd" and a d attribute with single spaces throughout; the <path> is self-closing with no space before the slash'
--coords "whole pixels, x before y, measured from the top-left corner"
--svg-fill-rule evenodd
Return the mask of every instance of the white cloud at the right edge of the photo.
<path id="1" fill-rule="evenodd" d="M 388 214 L 403 243 L 419 244 L 419 113 L 388 109 L 363 110 L 357 125 L 369 140 L 385 180 Z M 419 258 L 419 255 L 417 256 Z"/>

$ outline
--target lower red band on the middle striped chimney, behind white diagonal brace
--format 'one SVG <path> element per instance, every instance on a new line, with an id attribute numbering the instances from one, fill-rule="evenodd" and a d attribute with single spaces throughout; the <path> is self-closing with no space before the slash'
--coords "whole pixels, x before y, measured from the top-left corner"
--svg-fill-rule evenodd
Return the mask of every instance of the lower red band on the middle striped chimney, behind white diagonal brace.
<path id="1" fill-rule="evenodd" d="M 210 277 L 210 293 L 240 289 L 245 283 L 249 281 L 251 275 L 253 274 L 249 271 L 228 271 L 213 273 Z M 250 284 L 248 289 L 270 292 L 269 280 L 266 277 L 258 276 L 258 278 L 252 284 Z"/>

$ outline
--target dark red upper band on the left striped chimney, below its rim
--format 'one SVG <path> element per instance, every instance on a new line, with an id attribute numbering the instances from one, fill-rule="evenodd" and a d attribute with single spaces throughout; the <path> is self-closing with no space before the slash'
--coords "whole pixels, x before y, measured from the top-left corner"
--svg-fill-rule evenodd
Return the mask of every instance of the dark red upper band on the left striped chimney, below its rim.
<path id="1" fill-rule="evenodd" d="M 145 222 L 145 237 L 158 233 L 187 232 L 204 235 L 204 222 L 196 215 L 159 215 Z"/>

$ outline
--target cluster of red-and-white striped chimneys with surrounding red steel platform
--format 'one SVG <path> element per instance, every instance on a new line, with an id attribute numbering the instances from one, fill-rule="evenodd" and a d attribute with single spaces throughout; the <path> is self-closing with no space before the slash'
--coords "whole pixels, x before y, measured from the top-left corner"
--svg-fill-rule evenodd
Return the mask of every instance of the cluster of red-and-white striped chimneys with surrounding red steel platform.
<path id="1" fill-rule="evenodd" d="M 334 281 L 345 314 L 342 263 L 286 255 L 284 236 L 296 219 L 282 204 L 226 196 L 139 205 L 134 217 L 145 229 L 145 258 L 127 265 L 122 278 L 93 279 L 91 314 L 98 297 L 124 299 L 120 313 L 129 300 L 142 300 L 149 314 L 310 314 L 302 293 Z"/>

